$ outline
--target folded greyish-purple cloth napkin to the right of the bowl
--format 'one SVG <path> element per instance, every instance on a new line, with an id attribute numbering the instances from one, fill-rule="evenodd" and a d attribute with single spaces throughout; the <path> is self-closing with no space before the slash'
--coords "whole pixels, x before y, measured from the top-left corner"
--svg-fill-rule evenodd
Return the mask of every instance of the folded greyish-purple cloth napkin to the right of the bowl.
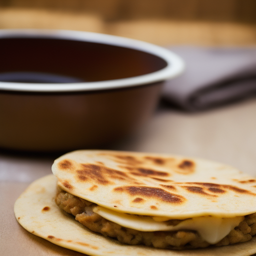
<path id="1" fill-rule="evenodd" d="M 167 47 L 185 71 L 164 83 L 162 96 L 186 110 L 202 110 L 256 92 L 256 47 Z"/>

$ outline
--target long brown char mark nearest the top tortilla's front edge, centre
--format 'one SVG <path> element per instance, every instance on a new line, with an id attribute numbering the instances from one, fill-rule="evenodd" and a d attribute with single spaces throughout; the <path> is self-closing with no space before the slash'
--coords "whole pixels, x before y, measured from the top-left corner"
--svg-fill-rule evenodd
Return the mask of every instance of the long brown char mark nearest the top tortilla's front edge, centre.
<path id="1" fill-rule="evenodd" d="M 114 188 L 114 191 L 126 191 L 133 196 L 144 196 L 148 198 L 156 198 L 164 202 L 181 203 L 185 198 L 178 194 L 170 193 L 162 188 L 151 186 L 122 186 Z"/>

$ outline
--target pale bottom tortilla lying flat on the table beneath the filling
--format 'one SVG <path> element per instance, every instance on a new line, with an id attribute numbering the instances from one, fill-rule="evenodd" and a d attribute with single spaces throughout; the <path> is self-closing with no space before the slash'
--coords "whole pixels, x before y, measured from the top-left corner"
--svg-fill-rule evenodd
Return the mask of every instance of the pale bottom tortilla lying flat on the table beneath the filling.
<path id="1" fill-rule="evenodd" d="M 59 246 L 95 256 L 249 256 L 256 253 L 256 237 L 232 245 L 179 251 L 122 244 L 90 231 L 61 211 L 54 201 L 56 182 L 54 175 L 35 180 L 16 200 L 14 213 L 26 230 Z"/>

